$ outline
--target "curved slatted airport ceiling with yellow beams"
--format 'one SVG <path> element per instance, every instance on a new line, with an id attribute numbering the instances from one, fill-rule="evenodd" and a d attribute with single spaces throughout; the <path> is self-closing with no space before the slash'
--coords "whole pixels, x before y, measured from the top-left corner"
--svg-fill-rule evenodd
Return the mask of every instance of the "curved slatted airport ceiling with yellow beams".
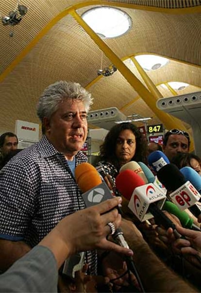
<path id="1" fill-rule="evenodd" d="M 10 12 L 20 17 L 18 5 L 28 8 L 26 14 L 16 25 L 5 23 Z M 128 32 L 111 38 L 94 33 L 82 15 L 102 6 L 125 12 Z M 79 82 L 91 92 L 91 110 L 117 107 L 126 116 L 152 117 L 151 125 L 191 132 L 190 125 L 158 110 L 156 101 L 201 91 L 200 0 L 1 0 L 0 17 L 0 133 L 14 131 L 17 119 L 39 123 L 38 97 L 57 80 Z M 147 54 L 168 62 L 148 71 L 137 61 Z M 113 68 L 109 76 L 98 74 Z"/>

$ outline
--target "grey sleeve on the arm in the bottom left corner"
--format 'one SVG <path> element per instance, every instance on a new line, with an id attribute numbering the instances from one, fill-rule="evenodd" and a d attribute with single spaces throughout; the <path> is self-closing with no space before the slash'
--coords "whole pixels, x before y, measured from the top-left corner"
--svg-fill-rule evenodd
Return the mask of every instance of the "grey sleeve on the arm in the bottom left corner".
<path id="1" fill-rule="evenodd" d="M 57 292 L 58 270 L 52 252 L 37 245 L 0 275 L 0 292 Z"/>

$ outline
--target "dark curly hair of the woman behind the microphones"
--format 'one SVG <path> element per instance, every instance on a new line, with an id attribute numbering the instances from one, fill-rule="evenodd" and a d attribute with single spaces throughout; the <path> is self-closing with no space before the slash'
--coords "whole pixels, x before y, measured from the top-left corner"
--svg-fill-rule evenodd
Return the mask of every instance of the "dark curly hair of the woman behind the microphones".
<path id="1" fill-rule="evenodd" d="M 147 163 L 148 147 L 145 138 L 133 123 L 122 122 L 110 129 L 103 144 L 100 146 L 101 161 L 110 162 L 115 165 L 117 169 L 119 168 L 119 162 L 116 156 L 117 138 L 119 137 L 120 132 L 126 129 L 129 129 L 134 133 L 136 140 L 136 150 L 132 161 Z"/>

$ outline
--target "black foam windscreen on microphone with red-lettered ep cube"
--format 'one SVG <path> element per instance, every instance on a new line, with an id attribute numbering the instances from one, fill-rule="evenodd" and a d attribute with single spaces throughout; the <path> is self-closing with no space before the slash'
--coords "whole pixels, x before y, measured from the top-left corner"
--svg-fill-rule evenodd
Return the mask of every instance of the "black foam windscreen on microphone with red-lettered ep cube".
<path id="1" fill-rule="evenodd" d="M 168 191 L 175 191 L 186 182 L 184 175 L 174 164 L 163 166 L 157 172 L 157 178 Z"/>

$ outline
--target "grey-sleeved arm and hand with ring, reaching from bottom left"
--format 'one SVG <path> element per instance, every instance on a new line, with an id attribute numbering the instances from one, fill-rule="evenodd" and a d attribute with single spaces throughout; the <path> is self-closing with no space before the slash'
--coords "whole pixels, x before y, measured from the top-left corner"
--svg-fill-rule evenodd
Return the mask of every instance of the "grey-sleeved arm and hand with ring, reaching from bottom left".
<path id="1" fill-rule="evenodd" d="M 109 222 L 116 228 L 120 225 L 121 216 L 114 209 L 120 202 L 121 198 L 114 198 L 62 219 L 38 245 L 0 275 L 0 292 L 56 293 L 59 267 L 79 251 L 105 249 L 133 256 L 132 250 L 106 238 L 111 234 Z M 84 282 L 79 282 L 76 292 L 85 292 Z"/>

